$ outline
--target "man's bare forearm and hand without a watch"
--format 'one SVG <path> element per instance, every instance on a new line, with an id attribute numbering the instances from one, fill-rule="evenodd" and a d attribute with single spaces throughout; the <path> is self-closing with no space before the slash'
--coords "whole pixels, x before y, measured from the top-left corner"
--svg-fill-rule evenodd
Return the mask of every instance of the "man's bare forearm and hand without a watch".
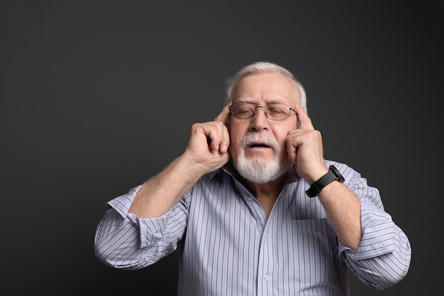
<path id="1" fill-rule="evenodd" d="M 227 105 L 214 121 L 194 124 L 185 152 L 145 182 L 128 212 L 139 218 L 159 217 L 168 212 L 202 175 L 226 164 L 230 159 L 230 136 L 225 126 L 229 116 Z"/>

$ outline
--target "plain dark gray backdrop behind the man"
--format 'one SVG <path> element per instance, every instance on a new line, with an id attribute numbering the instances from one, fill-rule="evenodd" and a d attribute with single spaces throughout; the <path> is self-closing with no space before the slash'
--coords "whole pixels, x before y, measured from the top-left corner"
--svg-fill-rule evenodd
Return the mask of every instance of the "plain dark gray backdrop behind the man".
<path id="1" fill-rule="evenodd" d="M 379 187 L 411 240 L 399 285 L 352 277 L 352 295 L 440 289 L 443 4 L 374 2 L 2 1 L 1 289 L 174 295 L 177 253 L 113 270 L 94 257 L 94 229 L 258 60 L 299 77 L 326 158 Z"/>

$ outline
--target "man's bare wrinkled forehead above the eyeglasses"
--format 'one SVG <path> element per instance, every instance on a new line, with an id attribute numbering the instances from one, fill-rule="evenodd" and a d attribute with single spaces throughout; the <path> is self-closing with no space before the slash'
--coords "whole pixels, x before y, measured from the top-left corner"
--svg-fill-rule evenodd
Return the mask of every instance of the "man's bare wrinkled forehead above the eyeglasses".
<path id="1" fill-rule="evenodd" d="M 243 77 L 233 89 L 233 102 L 238 99 L 252 99 L 268 102 L 284 101 L 289 104 L 299 102 L 299 88 L 289 77 L 279 72 L 255 73 Z"/>

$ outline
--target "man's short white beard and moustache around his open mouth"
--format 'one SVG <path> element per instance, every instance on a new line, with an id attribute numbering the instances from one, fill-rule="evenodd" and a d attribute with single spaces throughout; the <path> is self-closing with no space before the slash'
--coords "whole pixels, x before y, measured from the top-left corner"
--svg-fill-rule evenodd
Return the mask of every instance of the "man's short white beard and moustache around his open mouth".
<path id="1" fill-rule="evenodd" d="M 251 143 L 262 142 L 272 147 L 274 158 L 272 160 L 262 160 L 258 157 L 246 158 L 245 147 Z M 263 184 L 277 179 L 286 172 L 291 163 L 286 165 L 280 161 L 280 148 L 277 141 L 268 133 L 248 133 L 240 142 L 238 149 L 238 161 L 235 168 L 239 174 L 250 182 Z"/>

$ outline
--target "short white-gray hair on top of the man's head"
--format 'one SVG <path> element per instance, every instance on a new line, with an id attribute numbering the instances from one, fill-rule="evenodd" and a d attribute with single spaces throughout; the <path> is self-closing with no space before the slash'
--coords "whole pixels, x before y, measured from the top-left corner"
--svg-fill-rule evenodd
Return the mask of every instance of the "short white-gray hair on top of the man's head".
<path id="1" fill-rule="evenodd" d="M 233 75 L 233 77 L 228 78 L 228 80 L 226 80 L 226 103 L 231 101 L 231 94 L 233 93 L 233 89 L 243 77 L 250 74 L 263 72 L 278 72 L 286 77 L 289 77 L 289 79 L 291 79 L 294 84 L 296 84 L 296 87 L 299 89 L 299 93 L 301 94 L 299 104 L 307 113 L 307 97 L 305 89 L 302 86 L 301 82 L 299 82 L 299 80 L 294 77 L 292 72 L 289 72 L 289 70 L 285 69 L 284 67 L 281 67 L 272 62 L 254 62 L 240 69 L 235 75 Z"/>

